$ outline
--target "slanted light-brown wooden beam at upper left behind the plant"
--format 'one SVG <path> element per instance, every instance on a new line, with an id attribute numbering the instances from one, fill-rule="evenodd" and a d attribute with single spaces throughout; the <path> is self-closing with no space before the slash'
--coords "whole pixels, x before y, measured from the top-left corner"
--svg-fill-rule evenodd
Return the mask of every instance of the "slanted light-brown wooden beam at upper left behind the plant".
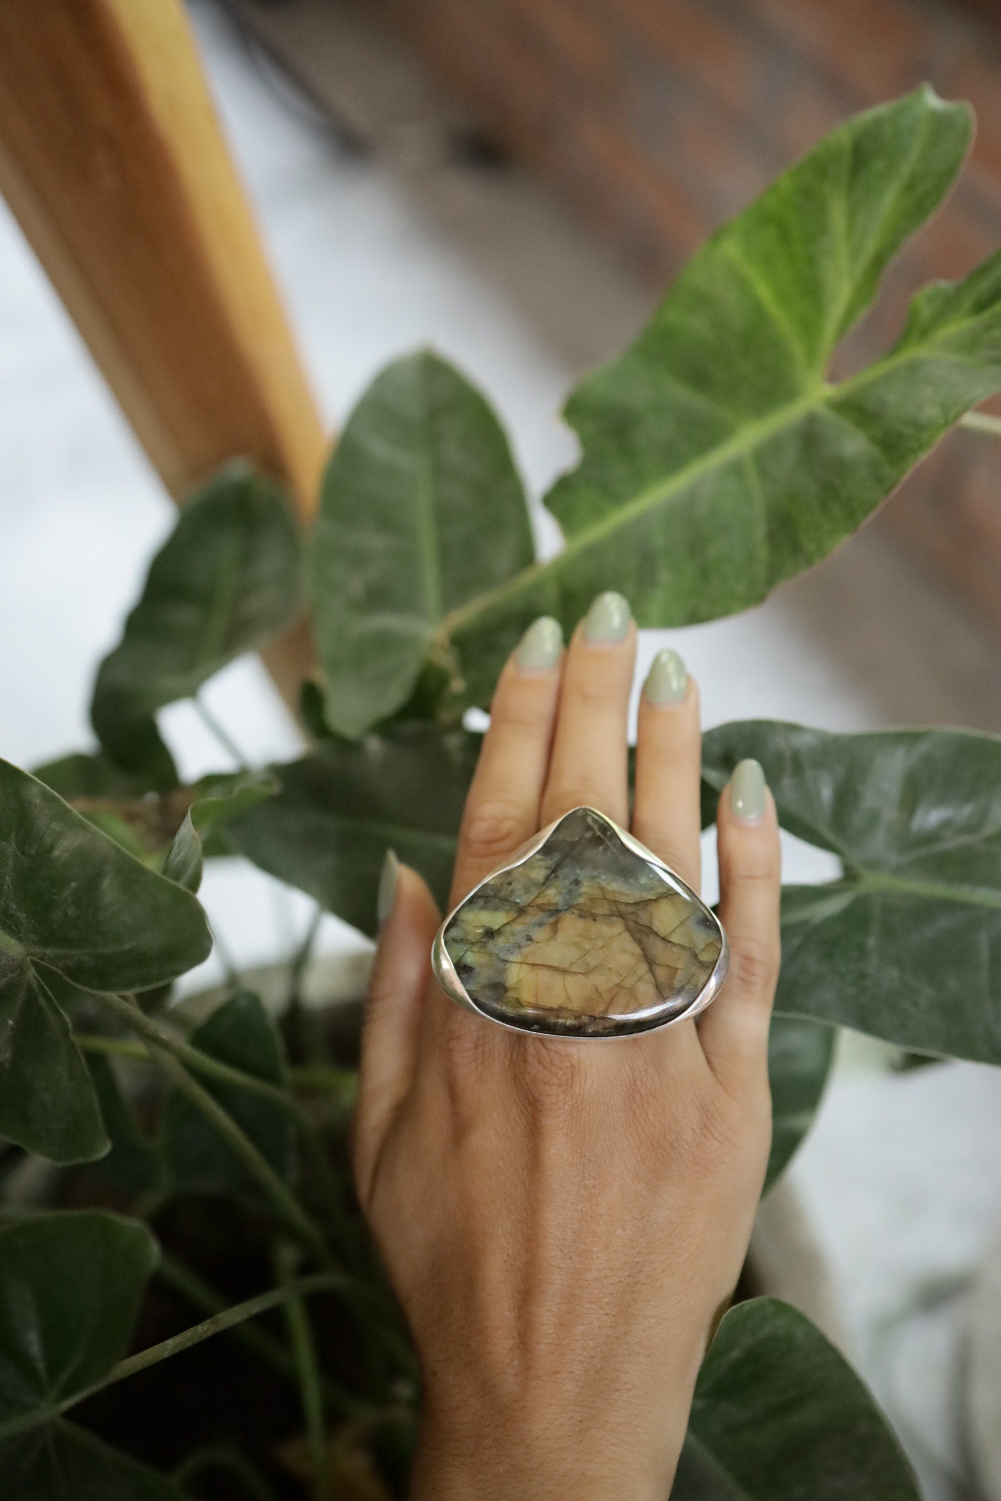
<path id="1" fill-rule="evenodd" d="M 3 0 L 0 192 L 171 495 L 243 455 L 308 519 L 327 440 L 180 0 Z M 290 702 L 309 660 L 269 653 Z"/>

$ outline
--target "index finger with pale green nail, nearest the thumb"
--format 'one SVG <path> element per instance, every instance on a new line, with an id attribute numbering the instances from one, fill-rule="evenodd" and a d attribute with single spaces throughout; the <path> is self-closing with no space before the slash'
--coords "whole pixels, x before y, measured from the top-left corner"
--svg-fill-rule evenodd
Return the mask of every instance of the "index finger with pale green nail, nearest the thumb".
<path id="1" fill-rule="evenodd" d="M 462 814 L 450 905 L 539 829 L 561 662 L 560 624 L 542 615 L 507 660 L 494 693 Z"/>

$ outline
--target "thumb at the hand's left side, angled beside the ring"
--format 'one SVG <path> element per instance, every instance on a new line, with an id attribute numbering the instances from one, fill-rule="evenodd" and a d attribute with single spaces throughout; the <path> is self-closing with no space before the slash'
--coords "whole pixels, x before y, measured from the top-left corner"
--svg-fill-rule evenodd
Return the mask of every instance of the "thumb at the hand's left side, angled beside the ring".
<path id="1" fill-rule="evenodd" d="M 392 850 L 380 881 L 380 910 L 383 928 L 365 1003 L 353 1133 L 354 1178 L 363 1204 L 386 1133 L 410 1088 L 422 998 L 431 976 L 431 944 L 438 929 L 431 892 Z"/>

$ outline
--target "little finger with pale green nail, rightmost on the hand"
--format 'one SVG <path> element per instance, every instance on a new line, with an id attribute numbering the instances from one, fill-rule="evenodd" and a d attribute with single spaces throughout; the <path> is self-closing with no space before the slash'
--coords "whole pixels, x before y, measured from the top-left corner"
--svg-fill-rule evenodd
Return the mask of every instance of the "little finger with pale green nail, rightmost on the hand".
<path id="1" fill-rule="evenodd" d="M 729 974 L 698 1027 L 708 1064 L 720 1076 L 767 1063 L 779 979 L 779 823 L 756 761 L 741 761 L 735 769 L 719 800 L 716 824 L 719 917 L 729 938 Z"/>

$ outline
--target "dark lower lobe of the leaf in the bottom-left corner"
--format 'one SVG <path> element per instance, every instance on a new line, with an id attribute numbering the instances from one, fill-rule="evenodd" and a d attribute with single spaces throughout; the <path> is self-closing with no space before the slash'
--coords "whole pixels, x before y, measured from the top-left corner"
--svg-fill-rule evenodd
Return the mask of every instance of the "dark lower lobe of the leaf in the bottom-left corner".
<path id="1" fill-rule="evenodd" d="M 75 1423 L 47 1423 L 0 1451 L 5 1501 L 185 1501 L 170 1480 Z"/>

